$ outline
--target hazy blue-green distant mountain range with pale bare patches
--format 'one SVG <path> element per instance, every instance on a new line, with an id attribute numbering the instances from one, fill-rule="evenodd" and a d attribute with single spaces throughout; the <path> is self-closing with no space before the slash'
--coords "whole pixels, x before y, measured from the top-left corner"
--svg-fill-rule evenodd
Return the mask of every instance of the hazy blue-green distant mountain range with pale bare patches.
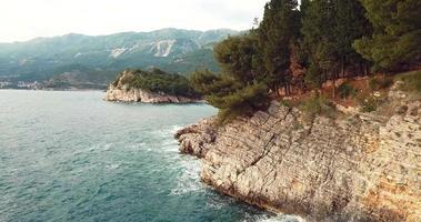
<path id="1" fill-rule="evenodd" d="M 213 44 L 238 31 L 162 29 L 90 37 L 66 34 L 0 43 L 0 87 L 40 82 L 41 88 L 103 89 L 127 68 L 189 73 L 218 70 Z"/>

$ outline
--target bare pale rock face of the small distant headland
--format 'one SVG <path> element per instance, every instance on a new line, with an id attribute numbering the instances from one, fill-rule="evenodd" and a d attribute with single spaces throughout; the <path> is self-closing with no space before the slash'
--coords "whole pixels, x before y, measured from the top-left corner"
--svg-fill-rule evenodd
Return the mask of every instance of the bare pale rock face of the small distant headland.
<path id="1" fill-rule="evenodd" d="M 131 87 L 124 79 L 133 77 L 130 70 L 123 71 L 114 83 L 110 84 L 107 90 L 107 101 L 119 102 L 144 102 L 144 103 L 193 103 L 199 102 L 196 98 L 167 94 L 163 92 L 150 92 L 140 88 Z"/>

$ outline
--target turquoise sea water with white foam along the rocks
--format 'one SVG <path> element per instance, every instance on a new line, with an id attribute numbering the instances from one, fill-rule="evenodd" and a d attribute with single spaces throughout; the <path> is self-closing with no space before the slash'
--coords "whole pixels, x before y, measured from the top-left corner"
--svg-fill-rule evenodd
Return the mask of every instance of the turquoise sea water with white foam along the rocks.
<path id="1" fill-rule="evenodd" d="M 294 221 L 223 196 L 173 133 L 204 104 L 0 90 L 0 221 Z"/>

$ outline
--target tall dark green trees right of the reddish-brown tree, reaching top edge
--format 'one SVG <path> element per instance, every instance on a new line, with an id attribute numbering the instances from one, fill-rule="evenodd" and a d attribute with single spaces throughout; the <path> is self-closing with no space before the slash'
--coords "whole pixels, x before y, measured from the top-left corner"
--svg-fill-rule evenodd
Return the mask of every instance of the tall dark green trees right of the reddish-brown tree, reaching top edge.
<path id="1" fill-rule="evenodd" d="M 352 47 L 357 39 L 371 33 L 359 0 L 305 0 L 301 10 L 310 83 L 320 87 L 325 79 L 334 80 L 338 70 L 343 75 L 347 67 L 365 61 Z"/>

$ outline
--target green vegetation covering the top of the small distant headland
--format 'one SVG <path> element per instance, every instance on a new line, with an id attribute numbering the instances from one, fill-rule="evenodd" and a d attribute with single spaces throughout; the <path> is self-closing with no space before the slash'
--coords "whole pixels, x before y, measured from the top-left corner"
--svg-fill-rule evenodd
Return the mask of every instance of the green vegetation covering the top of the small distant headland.
<path id="1" fill-rule="evenodd" d="M 200 94 L 191 87 L 189 79 L 180 74 L 170 74 L 159 69 L 150 71 L 130 70 L 118 75 L 112 82 L 114 87 L 118 84 L 129 85 L 150 92 L 167 93 L 174 95 L 198 98 Z"/>

